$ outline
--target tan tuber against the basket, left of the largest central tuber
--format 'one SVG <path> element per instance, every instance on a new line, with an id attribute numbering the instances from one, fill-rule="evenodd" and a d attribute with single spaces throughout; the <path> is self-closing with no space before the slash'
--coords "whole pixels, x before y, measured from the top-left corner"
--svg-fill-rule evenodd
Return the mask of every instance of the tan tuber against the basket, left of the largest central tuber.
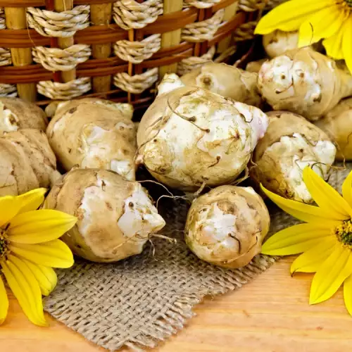
<path id="1" fill-rule="evenodd" d="M 58 161 L 68 171 L 104 168 L 135 180 L 136 128 L 132 106 L 101 99 L 59 103 L 46 134 Z"/>

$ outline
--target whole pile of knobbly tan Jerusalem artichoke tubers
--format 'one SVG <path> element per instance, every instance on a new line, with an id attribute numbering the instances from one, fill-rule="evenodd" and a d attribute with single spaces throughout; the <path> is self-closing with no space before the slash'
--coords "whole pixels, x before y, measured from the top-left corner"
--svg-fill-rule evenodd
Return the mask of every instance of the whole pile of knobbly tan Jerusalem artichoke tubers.
<path id="1" fill-rule="evenodd" d="M 44 208 L 78 218 L 63 241 L 77 256 L 113 262 L 141 253 L 165 226 L 136 180 L 144 165 L 192 199 L 184 239 L 196 256 L 248 264 L 270 227 L 255 189 L 312 203 L 303 168 L 327 179 L 335 158 L 352 160 L 352 76 L 319 46 L 297 42 L 276 31 L 263 37 L 268 59 L 246 70 L 208 62 L 165 75 L 138 127 L 127 103 L 84 98 L 45 114 L 0 98 L 0 195 L 51 189 Z"/>

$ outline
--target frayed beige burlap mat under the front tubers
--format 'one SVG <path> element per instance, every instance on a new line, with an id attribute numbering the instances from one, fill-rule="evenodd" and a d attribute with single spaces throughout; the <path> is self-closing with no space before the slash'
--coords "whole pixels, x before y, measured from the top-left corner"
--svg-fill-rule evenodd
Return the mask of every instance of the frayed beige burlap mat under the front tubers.
<path id="1" fill-rule="evenodd" d="M 346 175 L 348 170 L 334 170 L 329 183 L 340 188 Z M 58 272 L 58 287 L 46 298 L 46 311 L 112 351 L 155 347 L 184 327 L 204 296 L 239 289 L 275 261 L 260 255 L 238 270 L 204 263 L 183 241 L 186 203 L 169 201 L 163 210 L 168 222 L 163 234 L 177 244 L 153 239 L 141 255 L 115 264 L 77 260 L 72 269 Z M 277 208 L 270 208 L 270 215 L 270 233 L 296 222 Z"/>

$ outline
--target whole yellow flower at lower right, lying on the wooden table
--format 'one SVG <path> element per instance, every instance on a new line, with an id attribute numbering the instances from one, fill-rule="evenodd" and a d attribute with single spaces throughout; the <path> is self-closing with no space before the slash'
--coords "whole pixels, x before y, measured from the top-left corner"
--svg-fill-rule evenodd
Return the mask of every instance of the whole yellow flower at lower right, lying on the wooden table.
<path id="1" fill-rule="evenodd" d="M 262 253 L 303 253 L 292 263 L 291 272 L 316 272 L 309 303 L 326 301 L 344 284 L 344 301 L 352 315 L 352 172 L 342 185 L 343 197 L 308 167 L 303 181 L 318 206 L 284 199 L 262 187 L 282 210 L 307 222 L 277 232 Z"/>

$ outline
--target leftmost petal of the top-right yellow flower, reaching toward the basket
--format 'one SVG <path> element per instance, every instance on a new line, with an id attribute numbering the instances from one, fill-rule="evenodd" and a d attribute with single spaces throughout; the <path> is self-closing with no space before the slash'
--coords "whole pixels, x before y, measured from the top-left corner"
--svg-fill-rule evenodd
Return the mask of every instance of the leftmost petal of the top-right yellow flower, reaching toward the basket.
<path id="1" fill-rule="evenodd" d="M 310 15 L 327 6 L 334 6 L 332 0 L 292 0 L 274 8 L 260 19 L 255 34 L 268 34 L 274 30 L 293 31 Z"/>

